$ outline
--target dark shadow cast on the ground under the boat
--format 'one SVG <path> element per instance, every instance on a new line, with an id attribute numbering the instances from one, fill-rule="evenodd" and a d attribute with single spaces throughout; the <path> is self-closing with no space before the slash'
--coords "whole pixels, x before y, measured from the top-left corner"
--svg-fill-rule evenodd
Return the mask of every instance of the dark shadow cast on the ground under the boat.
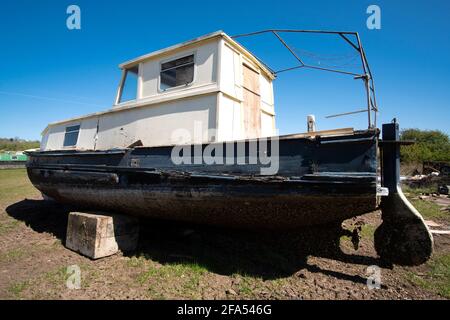
<path id="1" fill-rule="evenodd" d="M 48 232 L 65 242 L 70 208 L 42 200 L 23 200 L 6 208 L 17 220 L 36 232 Z M 308 256 L 361 265 L 381 265 L 369 256 L 344 254 L 339 247 L 340 224 L 308 227 L 295 232 L 250 232 L 187 223 L 144 220 L 141 223 L 139 256 L 169 263 L 198 263 L 211 272 L 245 274 L 263 279 L 288 277 L 306 269 L 352 282 L 366 279 L 326 270 L 307 263 Z"/>

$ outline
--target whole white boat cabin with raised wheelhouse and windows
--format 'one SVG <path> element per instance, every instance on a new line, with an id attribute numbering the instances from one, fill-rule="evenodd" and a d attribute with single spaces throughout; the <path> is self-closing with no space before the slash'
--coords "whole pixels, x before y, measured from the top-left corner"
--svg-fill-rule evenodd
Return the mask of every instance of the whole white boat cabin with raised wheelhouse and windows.
<path id="1" fill-rule="evenodd" d="M 275 135 L 274 75 L 224 32 L 119 66 L 110 110 L 52 123 L 41 150 L 108 150 Z"/>

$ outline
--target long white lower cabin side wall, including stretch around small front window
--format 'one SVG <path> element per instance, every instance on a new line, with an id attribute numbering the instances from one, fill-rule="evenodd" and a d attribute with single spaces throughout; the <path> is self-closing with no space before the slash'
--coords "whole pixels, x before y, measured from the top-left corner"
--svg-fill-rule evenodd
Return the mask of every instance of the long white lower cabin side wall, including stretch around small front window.
<path id="1" fill-rule="evenodd" d="M 76 149 L 79 150 L 126 148 L 137 140 L 144 146 L 210 142 L 215 139 L 208 129 L 215 128 L 216 105 L 217 94 L 210 94 L 50 126 L 43 136 L 41 149 L 73 149 L 63 147 L 65 128 L 78 124 L 81 127 Z M 184 131 L 178 131 L 180 134 L 174 140 L 176 130 L 180 129 Z"/>

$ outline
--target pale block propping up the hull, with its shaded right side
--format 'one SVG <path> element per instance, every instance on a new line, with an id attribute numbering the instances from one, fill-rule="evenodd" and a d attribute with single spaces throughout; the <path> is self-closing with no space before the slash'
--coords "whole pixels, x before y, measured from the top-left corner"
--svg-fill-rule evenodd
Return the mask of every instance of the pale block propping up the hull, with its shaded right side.
<path id="1" fill-rule="evenodd" d="M 91 259 L 136 249 L 138 221 L 109 213 L 71 212 L 67 224 L 66 247 Z"/>

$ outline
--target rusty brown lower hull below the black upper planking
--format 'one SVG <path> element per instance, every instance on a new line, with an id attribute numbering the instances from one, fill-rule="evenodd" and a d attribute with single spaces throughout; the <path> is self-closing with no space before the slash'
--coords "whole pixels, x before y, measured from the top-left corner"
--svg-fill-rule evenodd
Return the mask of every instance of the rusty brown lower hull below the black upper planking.
<path id="1" fill-rule="evenodd" d="M 84 208 L 234 227 L 293 228 L 328 223 L 373 211 L 377 206 L 373 194 L 280 194 L 278 188 L 267 186 L 262 192 L 251 193 L 249 187 L 239 190 L 221 186 L 185 186 L 183 190 L 169 186 L 36 186 L 61 203 Z"/>

